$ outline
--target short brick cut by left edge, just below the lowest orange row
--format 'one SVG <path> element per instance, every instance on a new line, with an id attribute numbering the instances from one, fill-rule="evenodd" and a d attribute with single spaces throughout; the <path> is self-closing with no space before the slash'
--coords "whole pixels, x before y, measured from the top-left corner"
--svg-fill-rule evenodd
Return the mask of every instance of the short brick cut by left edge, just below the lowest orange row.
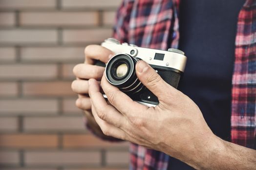
<path id="1" fill-rule="evenodd" d="M 16 151 L 0 151 L 0 164 L 19 164 L 19 153 Z"/>

